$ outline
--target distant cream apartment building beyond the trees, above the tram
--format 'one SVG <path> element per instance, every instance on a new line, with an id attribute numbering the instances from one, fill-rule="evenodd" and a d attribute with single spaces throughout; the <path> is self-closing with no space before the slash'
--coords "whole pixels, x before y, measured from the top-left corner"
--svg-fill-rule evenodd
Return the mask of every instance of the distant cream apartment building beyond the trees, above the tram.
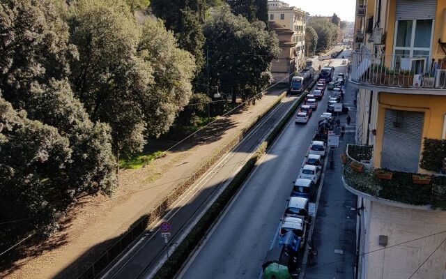
<path id="1" fill-rule="evenodd" d="M 279 37 L 281 49 L 272 61 L 273 82 L 289 83 L 293 73 L 305 65 L 305 27 L 309 13 L 282 1 L 268 1 L 269 27 Z"/>

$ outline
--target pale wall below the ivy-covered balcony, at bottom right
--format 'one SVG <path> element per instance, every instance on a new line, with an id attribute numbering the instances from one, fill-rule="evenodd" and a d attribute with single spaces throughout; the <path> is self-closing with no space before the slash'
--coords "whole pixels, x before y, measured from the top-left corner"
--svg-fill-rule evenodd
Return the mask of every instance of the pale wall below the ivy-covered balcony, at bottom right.
<path id="1" fill-rule="evenodd" d="M 367 279 L 408 279 L 446 239 L 446 232 L 417 241 L 398 243 L 446 231 L 445 211 L 422 211 L 386 206 L 371 202 L 370 225 L 367 227 L 367 249 L 364 257 Z M 366 221 L 367 223 L 367 221 Z M 380 235 L 388 237 L 389 247 L 378 245 Z M 379 250 L 378 252 L 371 252 Z M 413 279 L 446 278 L 446 242 L 429 258 Z"/>

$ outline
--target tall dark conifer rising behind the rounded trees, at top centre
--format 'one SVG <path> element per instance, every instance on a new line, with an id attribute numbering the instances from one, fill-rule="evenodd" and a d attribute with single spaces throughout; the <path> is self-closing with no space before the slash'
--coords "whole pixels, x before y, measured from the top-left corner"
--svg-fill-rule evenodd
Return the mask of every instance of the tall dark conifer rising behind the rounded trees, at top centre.
<path id="1" fill-rule="evenodd" d="M 153 0 L 153 13 L 164 21 L 164 26 L 174 31 L 180 48 L 194 55 L 197 68 L 204 64 L 203 24 L 208 6 L 205 0 Z"/>

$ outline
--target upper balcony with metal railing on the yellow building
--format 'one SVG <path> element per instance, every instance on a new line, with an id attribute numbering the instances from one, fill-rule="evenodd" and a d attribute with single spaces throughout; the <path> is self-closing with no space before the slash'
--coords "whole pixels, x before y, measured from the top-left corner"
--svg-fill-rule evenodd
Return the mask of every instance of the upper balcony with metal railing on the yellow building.
<path id="1" fill-rule="evenodd" d="M 353 86 L 403 94 L 446 95 L 446 56 L 371 54 L 355 51 Z"/>

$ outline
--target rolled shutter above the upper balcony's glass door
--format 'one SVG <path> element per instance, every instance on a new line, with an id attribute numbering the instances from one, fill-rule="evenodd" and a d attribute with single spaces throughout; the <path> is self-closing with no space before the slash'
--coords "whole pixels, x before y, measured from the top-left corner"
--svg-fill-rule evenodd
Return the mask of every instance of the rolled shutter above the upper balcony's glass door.
<path id="1" fill-rule="evenodd" d="M 434 19 L 436 8 L 437 0 L 397 0 L 397 20 Z"/>

